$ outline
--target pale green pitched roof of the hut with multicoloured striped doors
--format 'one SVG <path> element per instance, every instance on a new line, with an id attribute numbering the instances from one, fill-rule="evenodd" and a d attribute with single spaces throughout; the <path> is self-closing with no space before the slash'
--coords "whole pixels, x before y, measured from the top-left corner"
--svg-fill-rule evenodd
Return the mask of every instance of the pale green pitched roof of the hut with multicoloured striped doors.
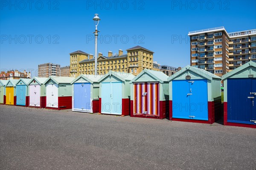
<path id="1" fill-rule="evenodd" d="M 134 79 L 132 79 L 130 83 L 139 79 L 141 76 L 143 76 L 143 74 L 149 74 L 151 77 L 154 77 L 154 79 L 157 79 L 161 83 L 167 82 L 167 79 L 169 78 L 169 76 L 164 74 L 162 71 L 144 69 L 142 72 L 140 72 L 140 74 L 138 74 Z"/>

